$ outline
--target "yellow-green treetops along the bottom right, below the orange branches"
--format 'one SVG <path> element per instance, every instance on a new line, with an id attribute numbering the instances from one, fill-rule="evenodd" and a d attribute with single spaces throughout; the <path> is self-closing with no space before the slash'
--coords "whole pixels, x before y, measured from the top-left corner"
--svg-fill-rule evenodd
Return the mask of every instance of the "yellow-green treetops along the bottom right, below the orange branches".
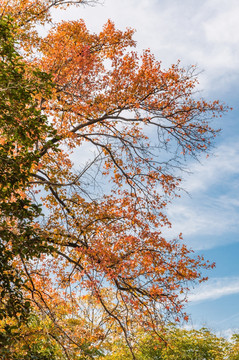
<path id="1" fill-rule="evenodd" d="M 236 360 L 239 359 L 238 335 L 232 341 L 218 337 L 206 328 L 185 330 L 170 327 L 160 338 L 150 334 L 135 337 L 137 360 Z M 100 359 L 130 360 L 124 343 L 116 341 Z"/>

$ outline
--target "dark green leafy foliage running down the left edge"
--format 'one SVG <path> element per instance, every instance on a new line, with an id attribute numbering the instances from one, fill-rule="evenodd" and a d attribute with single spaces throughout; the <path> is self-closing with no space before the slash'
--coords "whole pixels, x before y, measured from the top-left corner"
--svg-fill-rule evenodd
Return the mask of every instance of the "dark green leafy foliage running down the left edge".
<path id="1" fill-rule="evenodd" d="M 0 319 L 20 321 L 30 304 L 23 299 L 25 281 L 14 262 L 45 248 L 33 227 L 41 207 L 24 190 L 39 159 L 36 142 L 53 131 L 37 104 L 39 94 L 50 94 L 50 76 L 23 61 L 16 51 L 16 29 L 10 17 L 0 18 Z"/>

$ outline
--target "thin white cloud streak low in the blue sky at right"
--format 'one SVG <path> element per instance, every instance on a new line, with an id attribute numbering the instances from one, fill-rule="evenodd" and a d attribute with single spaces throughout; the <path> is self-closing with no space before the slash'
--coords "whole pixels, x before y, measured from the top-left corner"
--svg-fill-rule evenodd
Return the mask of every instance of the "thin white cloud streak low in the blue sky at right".
<path id="1" fill-rule="evenodd" d="M 215 300 L 223 296 L 239 293 L 239 277 L 232 278 L 212 278 L 207 283 L 199 285 L 192 291 L 188 300 L 190 302 L 200 302 L 205 300 Z"/>

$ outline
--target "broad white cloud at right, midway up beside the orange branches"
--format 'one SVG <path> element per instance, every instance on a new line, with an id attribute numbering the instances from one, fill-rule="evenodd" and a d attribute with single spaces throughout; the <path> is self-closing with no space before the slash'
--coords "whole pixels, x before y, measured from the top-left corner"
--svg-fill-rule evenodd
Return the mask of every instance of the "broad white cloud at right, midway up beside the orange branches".
<path id="1" fill-rule="evenodd" d="M 192 163 L 190 170 L 182 184 L 190 196 L 182 194 L 168 208 L 173 225 L 169 235 L 182 232 L 186 243 L 198 250 L 235 241 L 228 234 L 239 230 L 238 141 L 221 145 L 215 156 Z"/>

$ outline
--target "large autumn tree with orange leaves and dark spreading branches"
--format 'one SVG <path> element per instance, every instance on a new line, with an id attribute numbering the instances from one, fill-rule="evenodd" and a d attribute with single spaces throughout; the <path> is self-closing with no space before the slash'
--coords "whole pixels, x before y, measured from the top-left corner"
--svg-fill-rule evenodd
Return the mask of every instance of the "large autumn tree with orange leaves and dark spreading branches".
<path id="1" fill-rule="evenodd" d="M 207 152 L 209 121 L 226 109 L 194 98 L 194 67 L 163 70 L 149 50 L 138 56 L 131 29 L 108 21 L 91 34 L 79 20 L 37 33 L 52 7 L 81 3 L 1 1 L 4 274 L 17 303 L 62 331 L 66 357 L 70 346 L 86 353 L 86 325 L 67 325 L 85 299 L 101 319 L 87 327 L 96 347 L 117 329 L 132 350 L 135 322 L 157 332 L 171 316 L 187 319 L 189 283 L 213 265 L 181 236 L 165 238 L 166 205 L 177 170 Z M 18 317 L 19 307 L 6 312 L 4 281 L 3 313 Z"/>

